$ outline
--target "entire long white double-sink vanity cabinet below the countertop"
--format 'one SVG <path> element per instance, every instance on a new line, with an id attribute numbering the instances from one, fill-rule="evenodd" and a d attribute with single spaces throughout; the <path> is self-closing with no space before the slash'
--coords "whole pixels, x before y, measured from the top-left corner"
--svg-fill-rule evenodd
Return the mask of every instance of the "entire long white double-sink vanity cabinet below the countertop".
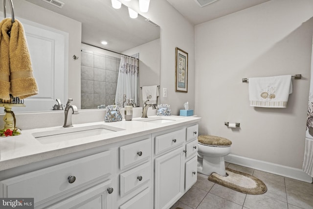
<path id="1" fill-rule="evenodd" d="M 34 198 L 35 209 L 169 209 L 197 181 L 197 133 L 195 122 L 156 127 L 2 170 L 0 198 Z"/>

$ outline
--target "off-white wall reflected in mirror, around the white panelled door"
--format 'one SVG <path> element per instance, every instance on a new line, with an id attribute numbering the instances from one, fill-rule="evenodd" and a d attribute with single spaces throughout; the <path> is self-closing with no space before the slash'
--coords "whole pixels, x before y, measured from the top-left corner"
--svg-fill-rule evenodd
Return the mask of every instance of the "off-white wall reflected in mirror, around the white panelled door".
<path id="1" fill-rule="evenodd" d="M 1 1 L 2 2 L 2 1 Z M 8 4 L 7 4 L 8 5 Z M 49 11 L 25 0 L 13 2 L 16 19 L 23 18 L 68 33 L 68 97 L 80 108 L 80 59 L 74 60 L 75 54 L 80 57 L 82 24 L 63 15 Z M 0 11 L 3 11 L 2 5 Z M 10 10 L 6 9 L 7 13 Z M 7 14 L 7 17 L 11 17 Z M 40 91 L 40 89 L 39 89 Z M 63 101 L 62 101 L 63 102 Z"/>

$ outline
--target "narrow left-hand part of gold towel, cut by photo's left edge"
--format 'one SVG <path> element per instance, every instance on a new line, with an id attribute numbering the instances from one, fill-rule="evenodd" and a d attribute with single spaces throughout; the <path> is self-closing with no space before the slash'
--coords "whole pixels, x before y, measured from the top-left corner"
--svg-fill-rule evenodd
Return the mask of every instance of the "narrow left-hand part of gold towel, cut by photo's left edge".
<path id="1" fill-rule="evenodd" d="M 6 18 L 0 22 L 0 98 L 10 99 L 10 37 L 7 34 L 12 20 Z"/>

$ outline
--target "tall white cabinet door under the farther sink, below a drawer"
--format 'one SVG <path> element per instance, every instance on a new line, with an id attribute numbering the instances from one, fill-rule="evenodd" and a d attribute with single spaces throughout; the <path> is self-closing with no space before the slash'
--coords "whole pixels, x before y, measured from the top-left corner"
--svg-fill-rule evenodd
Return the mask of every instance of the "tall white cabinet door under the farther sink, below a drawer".
<path id="1" fill-rule="evenodd" d="M 155 209 L 168 209 L 183 193 L 183 147 L 155 160 Z"/>

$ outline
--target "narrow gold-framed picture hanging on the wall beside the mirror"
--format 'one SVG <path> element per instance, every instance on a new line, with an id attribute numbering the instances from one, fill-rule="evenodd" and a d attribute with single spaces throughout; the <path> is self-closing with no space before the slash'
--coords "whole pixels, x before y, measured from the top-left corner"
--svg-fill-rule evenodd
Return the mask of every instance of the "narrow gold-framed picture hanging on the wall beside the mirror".
<path id="1" fill-rule="evenodd" d="M 188 91 L 188 53 L 175 48 L 175 91 L 184 92 Z"/>

